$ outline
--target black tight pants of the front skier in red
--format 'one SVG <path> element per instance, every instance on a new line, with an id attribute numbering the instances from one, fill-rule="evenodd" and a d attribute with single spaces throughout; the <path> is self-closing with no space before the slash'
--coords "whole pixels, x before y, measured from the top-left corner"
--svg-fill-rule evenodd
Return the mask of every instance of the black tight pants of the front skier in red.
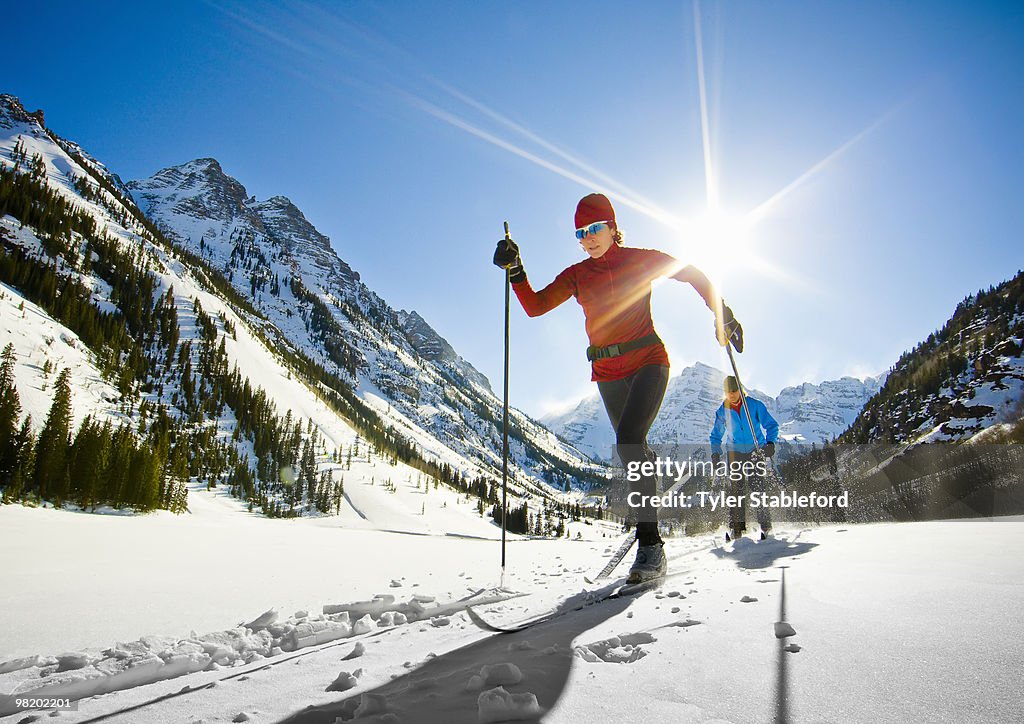
<path id="1" fill-rule="evenodd" d="M 654 460 L 654 453 L 647 446 L 647 432 L 662 409 L 668 385 L 669 368 L 665 365 L 647 365 L 622 380 L 597 383 L 608 420 L 615 431 L 615 453 L 627 471 L 631 463 L 638 465 Z M 657 533 L 657 508 L 648 502 L 657 494 L 657 478 L 644 475 L 634 481 L 628 476 L 627 481 L 630 493 L 639 493 L 647 499 L 645 505 L 634 508 L 637 542 L 641 546 L 662 543 Z"/>

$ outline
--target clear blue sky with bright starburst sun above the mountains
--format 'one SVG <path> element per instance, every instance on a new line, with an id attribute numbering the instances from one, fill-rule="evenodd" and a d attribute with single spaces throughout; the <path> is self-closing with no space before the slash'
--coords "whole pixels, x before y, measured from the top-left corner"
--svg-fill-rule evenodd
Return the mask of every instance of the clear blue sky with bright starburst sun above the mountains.
<path id="1" fill-rule="evenodd" d="M 612 198 L 629 244 L 707 268 L 745 328 L 744 381 L 772 394 L 885 371 L 1024 267 L 1014 3 L 49 2 L 5 15 L 3 92 L 126 180 L 212 156 L 250 194 L 288 196 L 499 392 L 502 222 L 540 287 L 583 259 L 572 211 L 592 190 Z M 658 286 L 654 322 L 677 372 L 727 365 L 689 288 Z M 572 300 L 536 320 L 513 309 L 512 343 L 516 407 L 593 391 Z"/>

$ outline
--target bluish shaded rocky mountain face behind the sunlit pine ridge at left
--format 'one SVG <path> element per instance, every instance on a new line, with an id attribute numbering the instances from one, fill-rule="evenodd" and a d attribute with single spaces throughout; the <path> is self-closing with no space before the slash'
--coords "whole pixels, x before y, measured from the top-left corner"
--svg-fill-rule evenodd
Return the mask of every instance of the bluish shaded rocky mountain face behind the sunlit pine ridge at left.
<path id="1" fill-rule="evenodd" d="M 418 313 L 394 310 L 364 285 L 291 201 L 249 197 L 214 159 L 163 169 L 128 186 L 169 237 L 223 269 L 281 331 L 281 343 L 349 380 L 425 451 L 474 474 L 499 470 L 501 403 L 486 378 Z M 314 318 L 293 282 L 324 303 L 329 321 Z M 531 475 L 551 462 L 591 467 L 541 425 L 512 415 L 523 430 L 511 442 L 514 467 Z"/>

